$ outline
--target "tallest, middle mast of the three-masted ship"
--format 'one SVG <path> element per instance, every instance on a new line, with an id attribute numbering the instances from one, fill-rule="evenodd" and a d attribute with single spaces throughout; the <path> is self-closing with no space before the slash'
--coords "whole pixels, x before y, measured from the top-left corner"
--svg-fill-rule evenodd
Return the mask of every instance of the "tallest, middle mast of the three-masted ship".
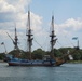
<path id="1" fill-rule="evenodd" d="M 33 35 L 31 33 L 31 29 L 30 29 L 30 12 L 28 11 L 28 27 L 27 27 L 27 33 L 26 36 L 28 37 L 27 39 L 27 43 L 28 43 L 28 52 L 30 54 L 30 59 L 31 59 L 31 45 L 32 45 L 32 39 L 31 38 Z"/>

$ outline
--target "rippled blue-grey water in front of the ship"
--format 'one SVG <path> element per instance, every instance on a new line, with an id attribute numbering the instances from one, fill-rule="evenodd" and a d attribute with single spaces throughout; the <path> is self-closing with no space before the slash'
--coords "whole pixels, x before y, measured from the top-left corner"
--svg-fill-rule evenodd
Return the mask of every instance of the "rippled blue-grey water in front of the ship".
<path id="1" fill-rule="evenodd" d="M 82 81 L 82 64 L 60 67 L 12 67 L 0 63 L 0 81 Z"/>

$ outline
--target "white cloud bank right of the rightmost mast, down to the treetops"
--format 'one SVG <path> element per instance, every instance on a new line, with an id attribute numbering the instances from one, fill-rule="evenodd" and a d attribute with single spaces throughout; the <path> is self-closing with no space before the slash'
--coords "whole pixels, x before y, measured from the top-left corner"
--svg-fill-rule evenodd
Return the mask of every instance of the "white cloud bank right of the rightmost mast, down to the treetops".
<path id="1" fill-rule="evenodd" d="M 68 18 L 62 24 L 54 24 L 54 30 L 58 38 L 56 46 L 74 46 L 72 37 L 79 37 L 82 40 L 82 19 L 81 18 Z M 72 44 L 73 43 L 73 44 Z"/>

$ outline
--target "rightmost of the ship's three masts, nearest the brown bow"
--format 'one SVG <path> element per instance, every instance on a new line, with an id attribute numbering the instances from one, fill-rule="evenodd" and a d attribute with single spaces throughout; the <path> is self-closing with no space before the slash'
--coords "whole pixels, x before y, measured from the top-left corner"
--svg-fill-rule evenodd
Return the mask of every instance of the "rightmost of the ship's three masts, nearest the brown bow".
<path id="1" fill-rule="evenodd" d="M 55 33 L 54 33 L 54 16 L 52 16 L 52 23 L 51 23 L 51 35 L 50 35 L 50 37 L 51 37 L 51 41 L 50 41 L 50 43 L 51 43 L 51 57 L 53 58 L 54 57 L 54 53 L 53 53 L 53 50 L 54 50 L 54 45 L 55 45 L 55 43 L 56 43 L 56 36 L 55 36 Z"/>

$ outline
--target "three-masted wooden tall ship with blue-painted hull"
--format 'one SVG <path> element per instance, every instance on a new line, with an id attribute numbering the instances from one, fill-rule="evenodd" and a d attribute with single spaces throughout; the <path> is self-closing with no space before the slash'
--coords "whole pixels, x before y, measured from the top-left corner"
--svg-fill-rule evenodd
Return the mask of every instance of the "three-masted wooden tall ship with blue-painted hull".
<path id="1" fill-rule="evenodd" d="M 10 56 L 8 64 L 9 66 L 60 66 L 62 64 L 66 63 L 64 57 L 68 56 L 69 54 L 63 56 L 63 57 L 55 57 L 54 56 L 54 45 L 56 43 L 56 35 L 54 31 L 54 15 L 52 16 L 52 22 L 51 22 L 51 35 L 50 35 L 50 44 L 51 44 L 51 51 L 49 55 L 44 55 L 42 59 L 32 59 L 31 57 L 31 46 L 32 46 L 32 33 L 31 33 L 31 27 L 30 27 L 30 11 L 28 11 L 28 28 L 27 28 L 27 43 L 28 43 L 28 53 L 29 53 L 29 58 L 23 59 L 19 57 L 13 57 Z M 10 37 L 10 36 L 9 36 Z M 19 50 L 17 45 L 17 33 L 16 33 L 16 28 L 15 28 L 15 40 L 13 40 L 14 48 L 16 50 Z"/>

